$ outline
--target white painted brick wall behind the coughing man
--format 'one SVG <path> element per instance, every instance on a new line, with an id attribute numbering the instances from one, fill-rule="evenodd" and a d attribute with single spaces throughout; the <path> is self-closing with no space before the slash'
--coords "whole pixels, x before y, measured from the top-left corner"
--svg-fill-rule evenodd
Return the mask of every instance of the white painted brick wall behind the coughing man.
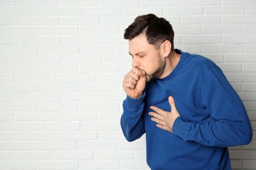
<path id="1" fill-rule="evenodd" d="M 167 18 L 175 47 L 223 69 L 256 130 L 255 0 L 0 0 L 0 169 L 149 169 L 119 119 L 131 69 L 123 30 Z M 230 148 L 256 169 L 256 138 Z"/>

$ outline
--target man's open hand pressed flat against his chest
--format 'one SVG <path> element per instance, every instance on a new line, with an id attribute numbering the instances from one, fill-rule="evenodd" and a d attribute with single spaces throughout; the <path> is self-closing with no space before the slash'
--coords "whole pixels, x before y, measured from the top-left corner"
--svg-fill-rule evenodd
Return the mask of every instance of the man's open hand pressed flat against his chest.
<path id="1" fill-rule="evenodd" d="M 148 114 L 153 116 L 151 120 L 157 123 L 157 127 L 173 133 L 173 123 L 175 122 L 176 118 L 181 115 L 175 107 L 175 101 L 173 97 L 168 97 L 168 101 L 171 106 L 171 112 L 167 112 L 165 110 L 159 109 L 158 107 L 152 106 L 150 109 L 154 110 L 155 112 L 149 112 Z"/>

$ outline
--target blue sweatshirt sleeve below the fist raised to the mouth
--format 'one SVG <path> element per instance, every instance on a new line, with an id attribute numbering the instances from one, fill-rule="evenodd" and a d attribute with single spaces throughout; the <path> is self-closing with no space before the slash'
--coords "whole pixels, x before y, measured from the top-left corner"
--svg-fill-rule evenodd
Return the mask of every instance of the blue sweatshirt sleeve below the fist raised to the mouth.
<path id="1" fill-rule="evenodd" d="M 123 101 L 123 114 L 121 116 L 121 129 L 127 141 L 135 141 L 145 133 L 144 109 L 145 92 L 138 99 L 129 96 Z"/>

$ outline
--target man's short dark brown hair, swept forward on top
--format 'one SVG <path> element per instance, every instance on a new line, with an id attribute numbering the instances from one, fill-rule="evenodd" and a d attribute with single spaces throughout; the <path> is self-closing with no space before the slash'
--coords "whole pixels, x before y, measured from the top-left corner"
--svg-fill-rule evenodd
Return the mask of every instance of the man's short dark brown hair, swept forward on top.
<path id="1" fill-rule="evenodd" d="M 173 27 L 165 18 L 158 18 L 155 14 L 137 16 L 134 22 L 125 29 L 123 37 L 131 40 L 141 33 L 146 34 L 148 42 L 153 44 L 156 49 L 160 48 L 162 42 L 168 40 L 171 42 L 171 50 L 174 50 Z"/>

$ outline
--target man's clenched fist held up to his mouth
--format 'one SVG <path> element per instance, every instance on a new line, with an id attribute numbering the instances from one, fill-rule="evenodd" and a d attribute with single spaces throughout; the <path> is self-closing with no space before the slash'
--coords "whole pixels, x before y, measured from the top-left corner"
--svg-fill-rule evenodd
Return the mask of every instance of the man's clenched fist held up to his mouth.
<path id="1" fill-rule="evenodd" d="M 125 93 L 133 98 L 139 98 L 144 88 L 146 87 L 146 73 L 144 71 L 139 70 L 138 68 L 134 67 L 131 69 L 123 80 L 123 90 Z"/>

